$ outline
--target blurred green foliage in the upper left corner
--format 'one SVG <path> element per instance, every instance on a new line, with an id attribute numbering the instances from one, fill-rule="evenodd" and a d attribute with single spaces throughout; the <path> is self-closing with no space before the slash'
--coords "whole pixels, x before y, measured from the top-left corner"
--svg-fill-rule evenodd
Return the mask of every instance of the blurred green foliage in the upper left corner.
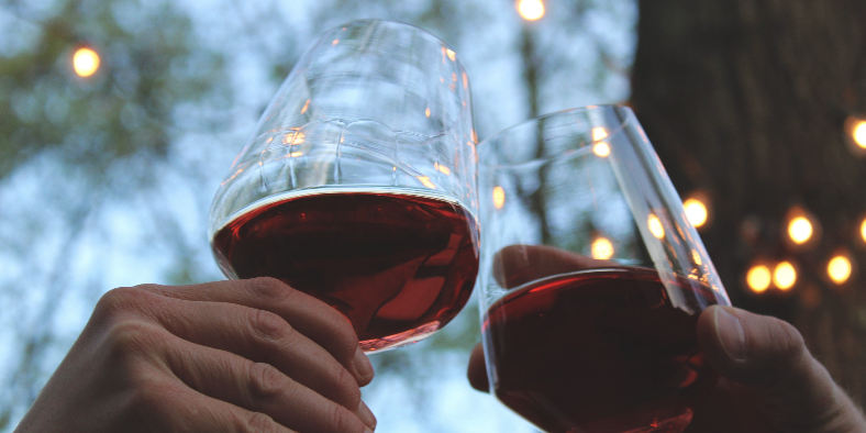
<path id="1" fill-rule="evenodd" d="M 222 55 L 200 48 L 189 18 L 168 2 L 67 0 L 38 18 L 32 10 L 5 8 L 36 32 L 18 37 L 31 47 L 0 56 L 0 178 L 51 149 L 99 181 L 119 159 L 165 158 L 179 104 L 227 102 Z M 102 59 L 88 78 L 71 67 L 82 46 Z"/>

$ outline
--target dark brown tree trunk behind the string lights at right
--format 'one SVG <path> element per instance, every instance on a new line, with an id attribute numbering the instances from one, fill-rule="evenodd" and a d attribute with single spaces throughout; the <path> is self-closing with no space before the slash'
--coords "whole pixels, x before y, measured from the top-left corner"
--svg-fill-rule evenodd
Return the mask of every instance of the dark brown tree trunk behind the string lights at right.
<path id="1" fill-rule="evenodd" d="M 637 33 L 634 110 L 684 198 L 710 195 L 701 235 L 734 304 L 792 321 L 866 401 L 866 158 L 843 129 L 866 119 L 866 1 L 644 0 Z M 785 242 L 795 206 L 822 226 L 810 248 Z M 837 286 L 843 248 L 861 271 Z M 750 293 L 759 259 L 795 262 L 793 289 Z"/>

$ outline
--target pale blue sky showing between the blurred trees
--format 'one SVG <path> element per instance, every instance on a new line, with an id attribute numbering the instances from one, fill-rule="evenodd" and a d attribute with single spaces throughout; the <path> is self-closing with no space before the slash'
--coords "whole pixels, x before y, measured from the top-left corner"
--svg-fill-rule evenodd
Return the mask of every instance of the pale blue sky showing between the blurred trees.
<path id="1" fill-rule="evenodd" d="M 557 13 L 563 2 L 548 0 L 548 15 L 532 24 L 539 29 L 540 55 L 549 60 L 546 65 L 551 70 L 541 89 L 540 111 L 626 100 L 628 69 L 635 48 L 636 5 L 629 0 L 587 1 L 590 7 L 579 20 L 563 22 L 563 14 Z M 29 3 L 45 10 L 56 4 Z M 0 295 L 0 311 L 14 312 L 0 314 L 0 381 L 9 380 L 16 368 L 25 334 L 22 330 L 40 326 L 48 326 L 53 335 L 53 343 L 42 358 L 43 373 L 37 382 L 47 380 L 86 323 L 95 301 L 111 288 L 166 284 L 177 260 L 192 264 L 193 279 L 223 278 L 208 246 L 208 209 L 232 159 L 280 84 L 271 77 L 271 65 L 297 58 L 319 34 L 352 19 L 412 22 L 411 18 L 423 9 L 426 0 L 388 7 L 381 1 L 360 2 L 332 12 L 323 11 L 314 0 L 188 0 L 176 4 L 192 19 L 200 43 L 225 55 L 227 77 L 235 95 L 232 107 L 177 109 L 177 124 L 182 126 L 185 119 L 192 118 L 185 110 L 213 110 L 230 119 L 230 123 L 219 134 L 181 127 L 173 135 L 168 151 L 170 164 L 153 167 L 152 188 L 130 191 L 130 197 L 123 200 L 104 199 L 80 221 L 69 221 L 68 213 L 53 206 L 70 202 L 87 208 L 88 200 L 96 199 L 81 192 L 85 182 L 75 167 L 64 165 L 49 152 L 18 167 L 0 181 L 0 218 L 5 221 L 0 234 L 25 226 L 40 233 L 37 242 L 27 244 L 24 253 L 21 248 L 0 248 L 3 268 L 0 282 L 9 287 L 25 277 L 29 281 L 27 287 Z M 454 4 L 457 11 L 467 14 L 456 21 L 465 24 L 458 24 L 456 30 L 435 25 L 426 30 L 454 47 L 464 63 L 471 82 L 476 129 L 484 140 L 526 119 L 522 65 L 517 49 L 523 23 L 510 1 Z M 135 25 L 134 16 L 124 15 L 122 9 L 115 13 L 121 16 L 119 21 Z M 0 43 L 0 55 L 26 46 L 26 29 L 10 22 L 0 8 L 0 33 L 21 32 L 23 42 L 18 48 L 11 43 Z M 607 54 L 607 66 L 601 68 L 599 49 Z M 123 188 L 121 185 L 118 189 Z M 157 215 L 153 214 L 154 209 L 158 210 Z M 77 236 L 68 241 L 76 223 L 82 225 Z M 169 233 L 181 242 L 167 243 L 155 233 Z M 178 251 L 178 244 L 185 247 Z M 36 259 L 22 260 L 16 254 Z M 51 297 L 60 299 L 56 311 L 42 307 Z M 443 331 L 444 337 L 448 337 L 448 332 L 477 326 L 477 303 L 473 300 Z M 469 347 L 433 353 L 432 344 L 422 342 L 399 349 L 404 355 L 398 359 L 417 375 L 414 380 L 386 375 L 365 389 L 364 400 L 379 420 L 377 432 L 533 431 L 493 398 L 469 388 L 465 378 Z M 376 356 L 371 355 L 374 364 Z M 26 399 L 2 392 L 0 398 L 4 398 L 0 401 Z M 24 409 L 16 407 L 11 426 Z"/>

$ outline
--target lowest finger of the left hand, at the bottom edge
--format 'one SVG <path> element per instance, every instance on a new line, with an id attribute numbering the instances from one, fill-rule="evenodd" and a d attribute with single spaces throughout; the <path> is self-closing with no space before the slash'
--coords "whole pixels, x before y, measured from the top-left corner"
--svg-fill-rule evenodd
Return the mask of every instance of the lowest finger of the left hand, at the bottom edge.
<path id="1" fill-rule="evenodd" d="M 132 419 L 122 420 L 118 431 L 296 433 L 262 412 L 204 396 L 178 379 L 140 387 L 126 403 Z"/>

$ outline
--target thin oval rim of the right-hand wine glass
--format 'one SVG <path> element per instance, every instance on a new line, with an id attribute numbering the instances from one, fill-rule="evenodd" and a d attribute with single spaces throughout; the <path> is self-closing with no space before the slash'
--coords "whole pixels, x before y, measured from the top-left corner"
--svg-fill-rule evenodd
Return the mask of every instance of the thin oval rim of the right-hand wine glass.
<path id="1" fill-rule="evenodd" d="M 501 131 L 497 132 L 496 134 L 492 134 L 492 135 L 488 136 L 487 138 L 481 140 L 480 142 L 478 142 L 478 144 L 477 144 L 478 155 L 479 155 L 478 167 L 479 168 L 480 167 L 485 167 L 485 168 L 523 168 L 523 167 L 525 167 L 528 165 L 544 164 L 546 162 L 549 162 L 549 160 L 553 160 L 553 159 L 558 159 L 558 158 L 562 158 L 563 156 L 567 156 L 567 155 L 569 155 L 571 153 L 578 152 L 579 147 L 571 147 L 571 148 L 567 148 L 565 151 L 562 151 L 559 153 L 556 153 L 556 154 L 544 155 L 544 156 L 541 156 L 541 157 L 537 157 L 537 158 L 536 157 L 532 157 L 532 158 L 529 158 L 529 159 L 523 159 L 523 160 L 513 162 L 513 163 L 501 163 L 501 162 L 498 162 L 496 164 L 489 164 L 486 160 L 486 158 L 484 158 L 484 156 L 481 155 L 481 154 L 487 152 L 488 147 L 490 147 L 489 145 L 485 145 L 485 143 L 496 141 L 496 140 L 498 140 L 498 138 L 500 138 L 502 136 L 506 136 L 506 135 L 508 135 L 508 134 L 510 134 L 510 133 L 512 133 L 512 132 L 514 132 L 514 131 L 517 131 L 519 129 L 526 127 L 529 125 L 536 124 L 539 122 L 542 122 L 542 121 L 545 121 L 545 120 L 548 120 L 548 119 L 566 116 L 566 115 L 584 113 L 584 112 L 592 112 L 592 111 L 602 111 L 603 112 L 603 111 L 607 111 L 607 110 L 619 111 L 619 110 L 622 110 L 622 109 L 629 110 L 629 112 L 631 112 L 631 109 L 629 108 L 629 106 L 625 106 L 625 104 L 620 104 L 620 103 L 595 104 L 595 106 L 586 106 L 586 107 L 576 107 L 576 108 L 554 111 L 554 112 L 546 113 L 546 114 L 541 114 L 541 115 L 537 115 L 535 118 L 522 121 L 522 122 L 520 122 L 520 123 L 518 123 L 515 125 L 508 126 L 504 130 L 501 130 Z M 619 134 L 620 132 L 622 132 L 625 129 L 625 126 L 629 125 L 629 123 L 632 120 L 629 119 L 628 116 L 622 119 L 622 121 L 617 125 L 617 127 L 610 130 L 610 132 L 604 137 L 604 140 L 610 140 L 610 137 L 612 137 L 612 136 Z M 590 142 L 587 142 L 586 145 L 591 145 L 593 143 L 602 142 L 604 140 L 592 140 Z"/>

